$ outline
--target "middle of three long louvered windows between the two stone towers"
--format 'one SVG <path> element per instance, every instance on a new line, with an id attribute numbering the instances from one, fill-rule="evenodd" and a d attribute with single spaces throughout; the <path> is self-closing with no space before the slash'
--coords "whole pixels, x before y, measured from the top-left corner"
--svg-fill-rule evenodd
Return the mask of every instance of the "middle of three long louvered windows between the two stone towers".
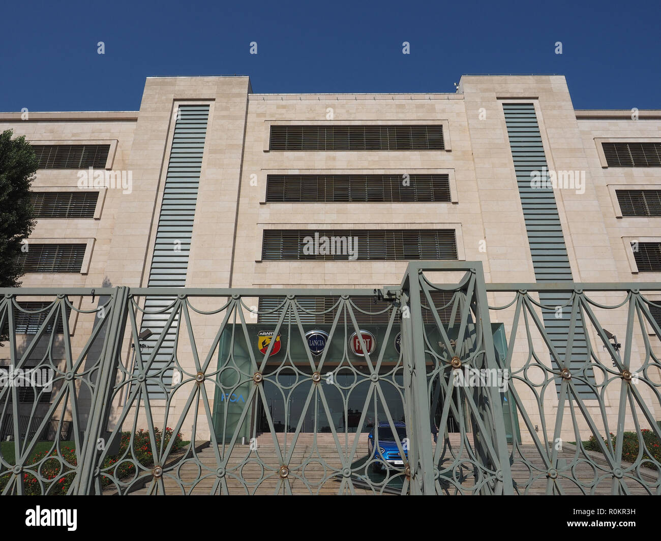
<path id="1" fill-rule="evenodd" d="M 449 202 L 447 174 L 270 174 L 267 203 Z"/>

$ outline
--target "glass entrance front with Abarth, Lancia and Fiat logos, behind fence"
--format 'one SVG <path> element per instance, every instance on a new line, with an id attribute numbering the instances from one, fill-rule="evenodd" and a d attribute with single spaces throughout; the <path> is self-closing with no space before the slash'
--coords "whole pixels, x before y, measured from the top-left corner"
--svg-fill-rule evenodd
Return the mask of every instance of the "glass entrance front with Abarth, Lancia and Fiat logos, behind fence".
<path id="1" fill-rule="evenodd" d="M 317 329 L 329 332 L 328 324 L 309 325 L 305 332 Z M 378 384 L 371 379 L 371 372 L 366 359 L 353 353 L 350 347 L 350 331 L 336 328 L 334 335 L 327 342 L 328 351 L 319 371 L 319 382 L 313 381 L 313 367 L 319 367 L 321 356 L 308 357 L 307 342 L 300 336 L 299 330 L 292 326 L 288 336 L 283 332 L 278 343 L 272 347 L 272 353 L 262 371 L 262 390 L 250 398 L 253 376 L 249 347 L 253 349 L 254 359 L 259 364 L 264 358 L 260 351 L 268 329 L 274 325 L 248 324 L 248 345 L 243 332 L 233 332 L 228 328 L 220 343 L 217 381 L 221 386 L 215 393 L 214 423 L 216 436 L 221 441 L 234 432 L 237 423 L 241 423 L 240 435 L 251 437 L 274 431 L 276 433 L 295 432 L 300 426 L 303 433 L 330 433 L 331 427 L 340 432 L 368 432 L 380 422 L 405 421 L 404 410 L 404 372 L 399 351 L 399 325 L 393 325 L 388 332 L 387 325 L 367 324 L 361 326 L 375 337 L 375 350 L 370 354 L 372 363 L 379 357 Z M 430 326 L 431 327 L 431 326 Z M 283 325 L 283 328 L 286 328 Z M 495 329 L 494 329 L 495 331 Z M 498 329 L 502 333 L 502 329 Z M 432 338 L 434 330 L 427 331 Z M 502 337 L 504 338 L 504 337 Z M 267 345 L 268 347 L 268 345 Z M 428 363 L 432 367 L 432 362 Z M 449 373 L 449 372 L 448 372 Z M 242 374 L 242 379 L 239 375 Z M 428 375 L 430 379 L 431 375 Z M 447 375 L 446 375 L 447 377 Z M 243 383 L 239 382 L 243 380 Z M 438 427 L 445 403 L 444 393 L 437 388 L 438 379 L 434 380 L 430 390 L 430 431 L 434 423 Z M 453 397 L 456 402 L 456 398 Z M 245 412 L 245 410 L 248 410 Z M 459 432 L 459 419 L 453 412 L 465 412 L 466 408 L 451 409 L 447 426 L 439 428 L 443 433 Z M 465 419 L 467 420 L 467 419 Z M 254 429 L 254 430 L 253 430 Z M 471 430 L 466 425 L 468 431 Z"/>

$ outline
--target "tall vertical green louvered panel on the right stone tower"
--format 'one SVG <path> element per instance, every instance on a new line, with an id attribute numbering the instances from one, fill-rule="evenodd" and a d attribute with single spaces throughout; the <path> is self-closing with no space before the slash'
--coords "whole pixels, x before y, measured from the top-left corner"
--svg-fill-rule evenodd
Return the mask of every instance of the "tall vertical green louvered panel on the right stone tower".
<path id="1" fill-rule="evenodd" d="M 503 110 L 524 211 L 525 231 L 535 269 L 535 279 L 538 282 L 572 281 L 572 271 L 553 188 L 531 187 L 533 172 L 538 172 L 541 180 L 549 178 L 535 106 L 531 103 L 504 103 Z M 542 174 L 543 172 L 546 174 Z M 569 298 L 568 293 L 561 292 L 540 293 L 539 295 L 541 303 L 553 307 L 563 306 Z M 561 359 L 564 359 L 570 328 L 571 307 L 564 307 L 560 312 L 561 317 L 557 317 L 556 310 L 542 310 L 542 312 L 549 339 L 553 342 Z M 570 361 L 571 371 L 578 371 L 588 359 L 585 330 L 581 320 L 577 322 L 575 332 L 576 338 Z M 588 376 L 594 381 L 592 371 L 588 373 Z M 559 382 L 557 385 L 559 388 Z M 582 398 L 596 398 L 587 384 L 579 384 L 577 387 Z"/>

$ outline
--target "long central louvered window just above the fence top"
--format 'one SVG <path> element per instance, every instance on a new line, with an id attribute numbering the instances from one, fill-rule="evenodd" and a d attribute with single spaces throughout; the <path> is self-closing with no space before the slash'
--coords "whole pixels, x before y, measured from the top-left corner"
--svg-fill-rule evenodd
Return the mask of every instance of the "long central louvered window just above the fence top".
<path id="1" fill-rule="evenodd" d="M 455 260 L 454 229 L 266 229 L 262 260 Z"/>

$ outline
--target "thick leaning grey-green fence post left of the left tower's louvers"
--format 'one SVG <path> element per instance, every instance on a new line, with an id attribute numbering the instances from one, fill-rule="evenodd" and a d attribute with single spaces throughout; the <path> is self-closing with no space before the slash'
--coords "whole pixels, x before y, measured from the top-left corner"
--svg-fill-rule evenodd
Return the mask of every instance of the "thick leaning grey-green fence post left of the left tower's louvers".
<path id="1" fill-rule="evenodd" d="M 97 385 L 92 396 L 90 417 L 83 435 L 83 444 L 79 453 L 79 472 L 71 493 L 89 495 L 93 493 L 94 479 L 97 474 L 98 438 L 106 427 L 112 408 L 112 388 L 120 359 L 124 326 L 128 313 L 128 287 L 116 287 L 110 308 L 110 322 L 103 342 L 98 367 Z"/>

